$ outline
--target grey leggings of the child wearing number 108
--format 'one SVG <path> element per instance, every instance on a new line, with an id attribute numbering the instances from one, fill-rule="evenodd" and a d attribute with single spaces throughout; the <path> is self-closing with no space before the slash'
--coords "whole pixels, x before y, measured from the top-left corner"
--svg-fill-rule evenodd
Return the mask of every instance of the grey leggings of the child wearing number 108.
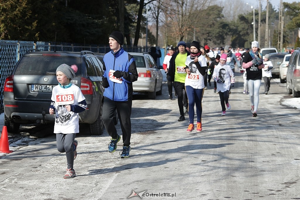
<path id="1" fill-rule="evenodd" d="M 66 152 L 67 156 L 67 169 L 73 169 L 74 163 L 74 139 L 76 133 L 62 134 L 56 133 L 56 146 L 57 150 L 61 153 Z"/>

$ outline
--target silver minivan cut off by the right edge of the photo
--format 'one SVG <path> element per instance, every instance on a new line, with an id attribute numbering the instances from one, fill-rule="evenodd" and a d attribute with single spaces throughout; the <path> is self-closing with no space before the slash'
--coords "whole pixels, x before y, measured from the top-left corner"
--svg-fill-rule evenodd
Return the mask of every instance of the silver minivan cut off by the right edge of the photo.
<path id="1" fill-rule="evenodd" d="M 293 97 L 300 97 L 300 48 L 297 47 L 289 59 L 286 71 L 286 92 Z"/>

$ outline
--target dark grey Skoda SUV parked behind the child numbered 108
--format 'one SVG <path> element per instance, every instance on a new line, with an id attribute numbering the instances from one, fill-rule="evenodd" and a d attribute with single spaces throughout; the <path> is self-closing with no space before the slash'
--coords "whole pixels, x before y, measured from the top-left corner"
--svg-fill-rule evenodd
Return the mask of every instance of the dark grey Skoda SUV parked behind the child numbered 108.
<path id="1" fill-rule="evenodd" d="M 103 64 L 99 58 L 90 51 L 42 52 L 37 49 L 26 52 L 5 80 L 4 124 L 9 132 L 17 132 L 20 124 L 55 121 L 55 115 L 49 114 L 49 106 L 52 88 L 58 85 L 56 68 L 63 63 L 78 67 L 71 82 L 81 89 L 88 106 L 79 113 L 79 123 L 89 124 L 91 135 L 103 133 Z"/>

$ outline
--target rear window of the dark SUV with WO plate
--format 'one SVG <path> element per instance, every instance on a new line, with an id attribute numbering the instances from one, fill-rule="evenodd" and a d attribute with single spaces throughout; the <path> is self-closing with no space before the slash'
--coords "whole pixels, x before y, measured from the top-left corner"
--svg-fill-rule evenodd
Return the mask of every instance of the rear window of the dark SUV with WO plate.
<path id="1" fill-rule="evenodd" d="M 74 56 L 26 55 L 20 60 L 14 75 L 49 75 L 56 74 L 61 64 L 81 66 L 81 58 Z M 78 69 L 80 71 L 80 69 Z"/>

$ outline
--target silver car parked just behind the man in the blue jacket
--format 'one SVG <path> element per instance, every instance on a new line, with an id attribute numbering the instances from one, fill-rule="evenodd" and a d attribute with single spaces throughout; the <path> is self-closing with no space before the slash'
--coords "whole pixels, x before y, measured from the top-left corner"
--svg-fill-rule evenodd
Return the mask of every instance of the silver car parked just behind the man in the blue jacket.
<path id="1" fill-rule="evenodd" d="M 128 52 L 134 57 L 139 77 L 132 83 L 133 91 L 148 94 L 155 99 L 163 91 L 163 75 L 149 53 Z"/>

